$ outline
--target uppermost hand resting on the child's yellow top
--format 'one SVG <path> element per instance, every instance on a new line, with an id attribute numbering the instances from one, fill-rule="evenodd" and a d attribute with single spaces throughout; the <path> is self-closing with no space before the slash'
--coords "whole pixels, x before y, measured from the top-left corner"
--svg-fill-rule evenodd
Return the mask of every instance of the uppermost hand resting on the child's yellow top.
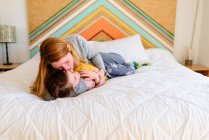
<path id="1" fill-rule="evenodd" d="M 79 71 L 81 77 L 84 80 L 93 80 L 96 84 L 99 83 L 99 74 L 93 71 L 82 70 Z"/>

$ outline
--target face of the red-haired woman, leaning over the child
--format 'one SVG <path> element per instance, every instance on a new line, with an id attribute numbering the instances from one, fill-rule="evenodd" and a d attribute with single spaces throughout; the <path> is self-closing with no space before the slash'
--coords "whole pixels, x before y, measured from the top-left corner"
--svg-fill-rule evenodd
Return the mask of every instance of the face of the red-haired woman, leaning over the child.
<path id="1" fill-rule="evenodd" d="M 60 60 L 51 63 L 51 65 L 53 68 L 57 70 L 65 70 L 65 71 L 73 72 L 74 69 L 73 56 L 71 55 L 71 53 L 68 53 Z"/>

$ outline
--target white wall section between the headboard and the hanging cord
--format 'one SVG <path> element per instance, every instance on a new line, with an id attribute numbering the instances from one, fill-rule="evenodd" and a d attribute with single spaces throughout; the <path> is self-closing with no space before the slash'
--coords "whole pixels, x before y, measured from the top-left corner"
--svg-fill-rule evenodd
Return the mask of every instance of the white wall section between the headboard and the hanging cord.
<path id="1" fill-rule="evenodd" d="M 177 0 L 174 56 L 182 64 L 192 46 L 196 6 L 197 0 Z"/>

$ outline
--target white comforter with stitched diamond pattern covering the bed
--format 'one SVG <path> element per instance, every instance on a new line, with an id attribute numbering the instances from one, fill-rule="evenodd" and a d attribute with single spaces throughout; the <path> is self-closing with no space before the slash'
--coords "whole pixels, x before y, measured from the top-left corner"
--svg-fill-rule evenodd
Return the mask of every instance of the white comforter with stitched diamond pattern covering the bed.
<path id="1" fill-rule="evenodd" d="M 0 75 L 0 140 L 208 140 L 209 78 L 160 49 L 151 66 L 76 98 L 29 93 L 38 56 Z"/>

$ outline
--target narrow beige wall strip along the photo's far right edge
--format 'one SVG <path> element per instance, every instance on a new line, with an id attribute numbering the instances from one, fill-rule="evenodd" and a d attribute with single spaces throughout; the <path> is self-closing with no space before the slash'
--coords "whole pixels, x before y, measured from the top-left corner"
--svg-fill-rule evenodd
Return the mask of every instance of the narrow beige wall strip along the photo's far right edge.
<path id="1" fill-rule="evenodd" d="M 202 0 L 200 0 L 202 1 Z M 209 67 L 209 0 L 203 0 L 197 63 Z"/>

